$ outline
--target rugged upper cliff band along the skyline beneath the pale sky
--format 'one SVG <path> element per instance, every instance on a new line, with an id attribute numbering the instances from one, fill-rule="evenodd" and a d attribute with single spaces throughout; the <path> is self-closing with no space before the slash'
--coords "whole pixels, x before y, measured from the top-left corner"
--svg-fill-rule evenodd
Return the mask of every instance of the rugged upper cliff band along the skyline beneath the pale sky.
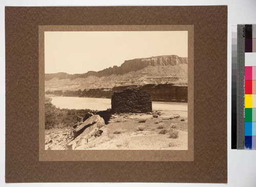
<path id="1" fill-rule="evenodd" d="M 148 57 L 124 61 L 121 66 L 113 66 L 101 71 L 88 71 L 83 74 L 68 74 L 68 73 L 46 73 L 45 81 L 57 77 L 58 79 L 70 79 L 75 78 L 86 78 L 88 76 L 109 76 L 109 75 L 122 75 L 129 73 L 131 71 L 138 71 L 147 66 L 177 66 L 179 64 L 187 64 L 187 58 L 178 57 L 177 55 L 169 56 L 157 56 L 157 57 Z"/>

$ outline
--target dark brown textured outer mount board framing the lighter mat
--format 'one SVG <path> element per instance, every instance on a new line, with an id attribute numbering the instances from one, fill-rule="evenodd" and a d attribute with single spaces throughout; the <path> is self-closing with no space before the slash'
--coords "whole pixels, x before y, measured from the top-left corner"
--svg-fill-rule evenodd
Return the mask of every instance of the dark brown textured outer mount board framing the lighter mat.
<path id="1" fill-rule="evenodd" d="M 39 161 L 39 25 L 194 25 L 194 161 Z M 6 182 L 227 182 L 227 6 L 6 7 Z"/>

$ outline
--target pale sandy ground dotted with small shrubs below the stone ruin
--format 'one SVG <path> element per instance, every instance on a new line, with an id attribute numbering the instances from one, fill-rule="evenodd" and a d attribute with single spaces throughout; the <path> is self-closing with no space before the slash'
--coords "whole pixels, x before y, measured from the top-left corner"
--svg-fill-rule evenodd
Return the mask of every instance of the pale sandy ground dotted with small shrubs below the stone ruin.
<path id="1" fill-rule="evenodd" d="M 169 117 L 168 113 L 158 118 L 153 118 L 151 114 L 112 115 L 109 124 L 101 128 L 103 133 L 100 137 L 90 139 L 90 142 L 76 149 L 187 150 L 187 119 L 168 119 Z M 46 130 L 46 142 L 53 137 L 58 139 L 57 135 L 68 134 L 68 130 Z M 163 133 L 159 133 L 160 131 Z M 178 138 L 170 138 L 169 133 L 172 131 L 177 131 Z M 47 147 L 48 145 L 46 149 Z M 57 146 L 56 149 L 63 149 L 63 146 Z"/>

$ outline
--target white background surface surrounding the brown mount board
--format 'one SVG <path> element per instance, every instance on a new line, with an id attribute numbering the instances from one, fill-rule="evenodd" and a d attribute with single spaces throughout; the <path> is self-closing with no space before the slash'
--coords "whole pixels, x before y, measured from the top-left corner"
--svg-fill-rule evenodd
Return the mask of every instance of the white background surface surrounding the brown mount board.
<path id="1" fill-rule="evenodd" d="M 256 24 L 256 1 L 1 1 L 0 2 L 0 119 L 1 119 L 1 154 L 0 154 L 0 186 L 256 186 L 256 150 L 231 150 L 231 25 Z M 200 6 L 228 5 L 228 100 L 227 100 L 227 140 L 228 140 L 228 183 L 5 183 L 5 6 Z M 218 136 L 218 135 L 217 135 Z"/>

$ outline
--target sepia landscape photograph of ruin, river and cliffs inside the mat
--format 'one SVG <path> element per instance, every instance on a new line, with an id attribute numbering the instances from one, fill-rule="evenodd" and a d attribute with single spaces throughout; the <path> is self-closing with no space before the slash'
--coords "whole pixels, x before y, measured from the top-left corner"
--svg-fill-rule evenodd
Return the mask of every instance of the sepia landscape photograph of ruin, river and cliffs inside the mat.
<path id="1" fill-rule="evenodd" d="M 187 31 L 45 31 L 45 150 L 188 150 Z"/>

